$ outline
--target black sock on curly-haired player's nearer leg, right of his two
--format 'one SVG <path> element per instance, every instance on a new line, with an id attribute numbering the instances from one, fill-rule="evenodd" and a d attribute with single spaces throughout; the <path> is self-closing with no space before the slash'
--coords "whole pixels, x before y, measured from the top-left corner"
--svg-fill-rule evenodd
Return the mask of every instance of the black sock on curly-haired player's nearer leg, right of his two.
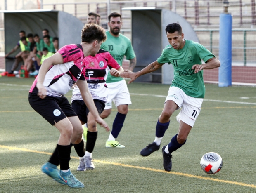
<path id="1" fill-rule="evenodd" d="M 68 170 L 69 169 L 69 160 L 70 153 L 71 153 L 72 144 L 68 146 L 62 146 L 57 144 L 57 149 L 59 152 L 59 165 L 61 170 Z"/>

